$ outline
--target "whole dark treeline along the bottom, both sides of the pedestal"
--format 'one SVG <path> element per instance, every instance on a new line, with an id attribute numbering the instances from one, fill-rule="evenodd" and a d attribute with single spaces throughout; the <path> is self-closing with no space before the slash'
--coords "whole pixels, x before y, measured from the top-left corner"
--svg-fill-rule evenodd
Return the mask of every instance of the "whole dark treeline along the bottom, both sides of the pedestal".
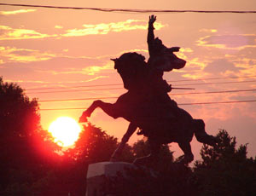
<path id="1" fill-rule="evenodd" d="M 123 189 L 142 195 L 146 182 L 155 181 L 151 193 L 160 190 L 170 196 L 255 195 L 256 159 L 247 158 L 247 145 L 236 147 L 236 137 L 226 130 L 219 130 L 218 139 L 217 147 L 201 148 L 201 161 L 193 167 L 176 164 L 163 146 L 157 180 L 131 170 L 132 179 L 141 183 L 127 182 Z M 117 138 L 88 124 L 75 147 L 63 151 L 42 129 L 38 101 L 30 101 L 17 84 L 0 78 L 0 195 L 85 195 L 88 165 L 108 161 L 118 144 Z M 141 140 L 127 145 L 121 159 L 132 162 L 148 153 L 147 141 Z M 177 170 L 173 165 L 179 165 Z"/>

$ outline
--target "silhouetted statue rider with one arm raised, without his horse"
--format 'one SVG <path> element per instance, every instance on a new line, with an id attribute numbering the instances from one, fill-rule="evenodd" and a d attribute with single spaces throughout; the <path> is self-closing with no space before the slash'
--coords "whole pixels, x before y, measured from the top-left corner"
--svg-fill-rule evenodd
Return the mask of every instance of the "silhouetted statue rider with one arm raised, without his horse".
<path id="1" fill-rule="evenodd" d="M 168 92 L 172 90 L 172 85 L 167 84 L 166 80 L 163 79 L 164 72 L 171 72 L 172 69 L 181 69 L 185 66 L 186 61 L 179 59 L 173 52 L 178 52 L 179 47 L 167 48 L 160 38 L 154 37 L 154 21 L 156 16 L 149 16 L 148 20 L 148 68 L 149 68 L 149 86 L 152 89 L 154 100 L 156 104 L 162 105 L 160 113 L 169 118 L 177 118 L 177 103 L 173 101 Z M 171 108 L 170 110 L 165 109 L 166 107 Z M 168 114 L 166 115 L 166 112 Z"/>

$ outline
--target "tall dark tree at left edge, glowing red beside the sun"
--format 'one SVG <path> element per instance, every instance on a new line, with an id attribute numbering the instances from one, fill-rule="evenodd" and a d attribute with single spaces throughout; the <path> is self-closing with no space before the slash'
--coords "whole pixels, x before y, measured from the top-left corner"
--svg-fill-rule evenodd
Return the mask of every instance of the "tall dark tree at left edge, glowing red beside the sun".
<path id="1" fill-rule="evenodd" d="M 3 193 L 32 194 L 47 184 L 43 179 L 49 178 L 49 157 L 56 156 L 57 149 L 51 139 L 40 126 L 38 101 L 30 101 L 20 86 L 4 83 L 0 78 L 0 190 Z"/>

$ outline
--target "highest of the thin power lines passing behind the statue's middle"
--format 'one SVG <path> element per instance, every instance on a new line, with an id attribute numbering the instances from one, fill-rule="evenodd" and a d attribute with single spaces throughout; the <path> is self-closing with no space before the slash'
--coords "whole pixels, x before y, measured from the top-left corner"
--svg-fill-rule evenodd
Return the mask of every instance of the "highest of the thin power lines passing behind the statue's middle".
<path id="1" fill-rule="evenodd" d="M 238 79 L 238 78 L 255 78 L 256 75 L 243 76 L 243 77 L 226 77 L 226 78 L 202 78 L 202 79 L 182 79 L 182 80 L 168 80 L 169 83 L 179 83 L 179 82 L 190 82 L 190 81 L 205 81 L 205 80 L 217 80 L 217 79 Z M 46 87 L 46 88 L 34 88 L 26 90 L 40 90 L 40 89 L 77 89 L 77 88 L 87 88 L 87 87 L 102 87 L 102 86 L 118 86 L 123 84 L 94 84 L 94 85 L 79 85 L 70 87 Z"/>

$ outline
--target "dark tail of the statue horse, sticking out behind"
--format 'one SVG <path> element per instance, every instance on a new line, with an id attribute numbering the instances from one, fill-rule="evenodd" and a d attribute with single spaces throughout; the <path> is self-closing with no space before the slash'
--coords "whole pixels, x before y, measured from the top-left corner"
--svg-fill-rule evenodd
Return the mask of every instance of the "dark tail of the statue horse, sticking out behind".
<path id="1" fill-rule="evenodd" d="M 197 141 L 208 144 L 212 147 L 215 146 L 216 143 L 218 143 L 216 137 L 207 134 L 205 130 L 206 125 L 202 119 L 194 119 L 193 123 L 195 129 L 195 138 Z"/>

